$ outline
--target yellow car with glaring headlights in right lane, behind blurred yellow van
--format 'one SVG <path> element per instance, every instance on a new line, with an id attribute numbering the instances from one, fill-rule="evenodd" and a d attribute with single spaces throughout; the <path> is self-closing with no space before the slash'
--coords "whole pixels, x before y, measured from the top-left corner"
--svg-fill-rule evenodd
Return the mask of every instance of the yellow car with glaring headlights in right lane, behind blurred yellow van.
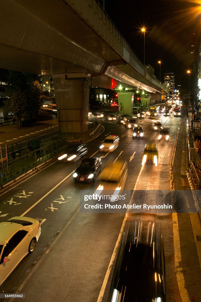
<path id="1" fill-rule="evenodd" d="M 142 155 L 142 165 L 146 162 L 153 163 L 157 167 L 158 165 L 158 145 L 156 143 L 146 143 Z"/>

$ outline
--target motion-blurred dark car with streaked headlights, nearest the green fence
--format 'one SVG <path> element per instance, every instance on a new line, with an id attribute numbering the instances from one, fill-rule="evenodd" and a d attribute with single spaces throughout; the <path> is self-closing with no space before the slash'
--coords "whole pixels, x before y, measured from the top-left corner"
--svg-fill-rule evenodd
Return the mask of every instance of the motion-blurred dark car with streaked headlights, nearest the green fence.
<path id="1" fill-rule="evenodd" d="M 67 159 L 68 161 L 76 162 L 82 156 L 84 156 L 88 152 L 88 148 L 86 144 L 82 144 L 79 146 L 74 146 L 68 150 L 67 153 L 62 154 L 58 157 L 58 160 Z"/>

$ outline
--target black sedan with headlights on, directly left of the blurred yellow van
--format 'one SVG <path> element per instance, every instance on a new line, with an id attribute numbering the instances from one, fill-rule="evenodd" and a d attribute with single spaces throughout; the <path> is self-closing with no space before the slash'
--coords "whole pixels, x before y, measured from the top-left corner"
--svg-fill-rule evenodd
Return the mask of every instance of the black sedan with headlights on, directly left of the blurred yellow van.
<path id="1" fill-rule="evenodd" d="M 81 160 L 73 174 L 75 182 L 95 182 L 101 171 L 101 159 L 98 157 L 85 157 Z"/>

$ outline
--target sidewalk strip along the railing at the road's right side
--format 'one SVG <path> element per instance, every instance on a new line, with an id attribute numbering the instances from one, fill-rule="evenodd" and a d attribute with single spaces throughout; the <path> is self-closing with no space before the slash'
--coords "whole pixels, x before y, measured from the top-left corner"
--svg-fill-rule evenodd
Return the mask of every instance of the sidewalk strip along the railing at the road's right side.
<path id="1" fill-rule="evenodd" d="M 189 194 L 185 194 L 185 190 L 191 190 L 186 175 L 186 170 L 188 170 L 187 152 L 186 120 L 184 120 L 179 130 L 174 157 L 174 189 L 182 190 L 180 200 L 176 200 L 176 211 L 178 211 L 178 205 L 181 205 L 181 199 L 183 199 L 183 208 L 181 207 L 180 213 L 177 212 L 177 218 L 185 285 L 190 300 L 195 295 L 195 302 L 198 302 L 201 301 L 201 221 L 198 213 L 192 213 L 195 212 L 192 194 L 190 194 L 190 198 Z"/>

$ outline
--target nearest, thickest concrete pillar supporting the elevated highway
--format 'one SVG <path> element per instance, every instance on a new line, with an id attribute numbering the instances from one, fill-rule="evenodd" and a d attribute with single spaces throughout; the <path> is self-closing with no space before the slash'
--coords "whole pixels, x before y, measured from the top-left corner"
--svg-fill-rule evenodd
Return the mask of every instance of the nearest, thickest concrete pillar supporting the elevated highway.
<path id="1" fill-rule="evenodd" d="M 54 74 L 59 130 L 80 140 L 88 130 L 90 77 L 86 73 Z"/>

